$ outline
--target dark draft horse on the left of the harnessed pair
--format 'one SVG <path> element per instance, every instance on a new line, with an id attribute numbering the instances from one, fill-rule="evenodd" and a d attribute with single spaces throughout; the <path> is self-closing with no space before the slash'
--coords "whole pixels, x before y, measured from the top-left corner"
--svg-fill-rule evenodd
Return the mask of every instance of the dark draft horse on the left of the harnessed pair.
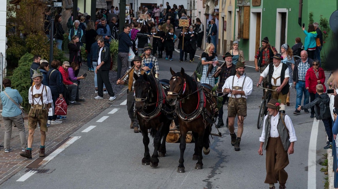
<path id="1" fill-rule="evenodd" d="M 139 120 L 140 129 L 143 135 L 144 157 L 143 165 L 156 167 L 159 164 L 159 156 L 165 157 L 166 154 L 166 138 L 169 133 L 171 119 L 168 119 L 166 114 L 162 112 L 165 106 L 165 91 L 159 80 L 155 78 L 155 73 L 152 71 L 150 75 L 144 73 L 137 76 L 134 73 L 134 89 L 135 89 L 135 106 L 136 115 Z M 149 137 L 154 138 L 154 152 L 150 158 L 149 154 Z M 161 139 L 162 144 L 161 144 Z"/>

